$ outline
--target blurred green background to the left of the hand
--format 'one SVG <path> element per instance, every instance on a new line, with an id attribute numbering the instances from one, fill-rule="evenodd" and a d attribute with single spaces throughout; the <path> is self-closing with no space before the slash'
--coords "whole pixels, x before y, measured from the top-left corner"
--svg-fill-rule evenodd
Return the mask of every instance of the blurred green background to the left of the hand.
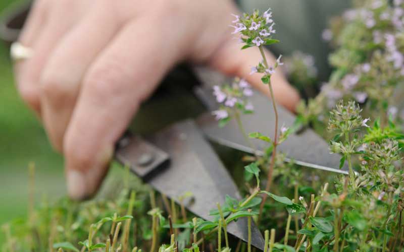
<path id="1" fill-rule="evenodd" d="M 0 0 L 0 12 L 15 1 Z M 49 145 L 39 121 L 14 85 L 9 48 L 0 43 L 0 226 L 27 211 L 28 164 L 34 162 L 35 195 L 65 194 L 63 159 Z M 0 234 L 0 244 L 3 234 Z"/>

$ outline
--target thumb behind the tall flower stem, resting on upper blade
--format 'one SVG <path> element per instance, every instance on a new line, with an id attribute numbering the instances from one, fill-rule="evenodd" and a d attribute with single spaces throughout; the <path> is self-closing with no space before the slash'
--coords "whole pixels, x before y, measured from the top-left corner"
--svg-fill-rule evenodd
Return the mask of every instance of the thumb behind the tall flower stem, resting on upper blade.
<path id="1" fill-rule="evenodd" d="M 230 34 L 230 32 L 229 32 Z M 257 47 L 240 50 L 242 44 L 237 39 L 227 39 L 216 51 L 210 64 L 219 71 L 232 76 L 246 79 L 252 86 L 270 96 L 268 85 L 261 82 L 261 75 L 250 75 L 251 67 L 262 61 L 260 50 Z M 268 62 L 275 62 L 275 58 L 268 50 L 264 50 Z M 271 63 L 269 63 L 271 64 Z M 298 92 L 287 82 L 280 68 L 272 75 L 271 83 L 275 100 L 294 111 L 299 101 Z"/>

